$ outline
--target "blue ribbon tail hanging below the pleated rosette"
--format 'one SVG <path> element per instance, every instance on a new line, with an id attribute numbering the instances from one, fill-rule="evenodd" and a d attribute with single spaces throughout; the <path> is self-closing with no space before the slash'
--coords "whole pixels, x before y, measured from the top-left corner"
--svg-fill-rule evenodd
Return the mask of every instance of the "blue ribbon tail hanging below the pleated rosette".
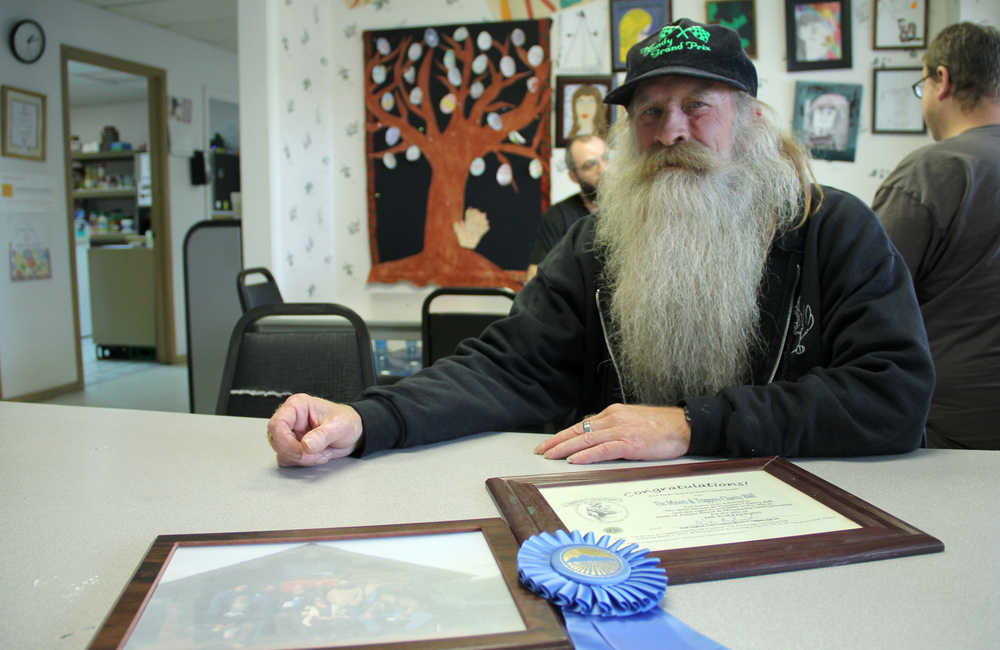
<path id="1" fill-rule="evenodd" d="M 576 650 L 725 650 L 659 607 L 634 616 L 583 616 L 563 610 Z"/>

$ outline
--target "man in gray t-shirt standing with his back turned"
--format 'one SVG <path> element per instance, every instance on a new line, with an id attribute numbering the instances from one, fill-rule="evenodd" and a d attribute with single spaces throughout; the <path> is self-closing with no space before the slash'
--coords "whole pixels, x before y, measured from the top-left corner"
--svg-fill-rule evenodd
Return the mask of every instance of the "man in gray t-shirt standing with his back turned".
<path id="1" fill-rule="evenodd" d="M 1000 32 L 959 23 L 913 84 L 935 144 L 872 208 L 913 276 L 937 371 L 932 447 L 1000 449 Z"/>

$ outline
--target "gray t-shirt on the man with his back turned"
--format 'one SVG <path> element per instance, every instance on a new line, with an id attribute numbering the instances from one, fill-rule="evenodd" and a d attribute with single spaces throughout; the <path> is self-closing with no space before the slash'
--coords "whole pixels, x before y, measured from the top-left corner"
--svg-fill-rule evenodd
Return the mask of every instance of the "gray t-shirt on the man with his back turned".
<path id="1" fill-rule="evenodd" d="M 928 444 L 1000 449 L 1000 125 L 911 153 L 872 209 L 927 326 L 937 374 Z"/>

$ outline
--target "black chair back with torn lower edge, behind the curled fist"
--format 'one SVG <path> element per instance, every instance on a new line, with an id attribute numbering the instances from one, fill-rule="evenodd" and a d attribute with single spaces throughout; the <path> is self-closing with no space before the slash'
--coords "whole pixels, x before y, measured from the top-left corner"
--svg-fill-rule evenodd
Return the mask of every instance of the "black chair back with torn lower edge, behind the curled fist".
<path id="1" fill-rule="evenodd" d="M 261 322 L 270 316 L 285 318 Z M 373 383 L 371 337 L 354 311 L 333 303 L 262 305 L 233 328 L 215 412 L 270 417 L 293 393 L 345 402 Z"/>

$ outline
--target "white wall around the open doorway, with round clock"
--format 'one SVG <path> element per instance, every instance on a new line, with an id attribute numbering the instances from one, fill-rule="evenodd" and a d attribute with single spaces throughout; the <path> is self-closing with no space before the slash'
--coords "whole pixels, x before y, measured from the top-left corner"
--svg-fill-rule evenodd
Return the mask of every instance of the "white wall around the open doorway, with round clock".
<path id="1" fill-rule="evenodd" d="M 211 45 L 73 0 L 4 0 L 0 4 L 3 34 L 8 34 L 13 24 L 22 18 L 33 18 L 45 29 L 45 53 L 38 62 L 26 65 L 14 59 L 4 45 L 0 48 L 0 80 L 5 85 L 46 95 L 46 160 L 32 162 L 0 157 L 0 175 L 38 175 L 51 188 L 55 211 L 40 226 L 51 244 L 53 277 L 13 283 L 7 273 L 0 276 L 0 397 L 3 398 L 76 380 L 72 289 L 68 272 L 69 217 L 65 214 L 60 45 L 164 68 L 167 92 L 190 98 L 195 103 L 195 122 L 191 129 L 198 134 L 195 141 L 199 144 L 203 132 L 201 102 L 205 88 L 218 89 L 232 97 L 237 95 L 235 55 Z M 176 340 L 178 353 L 185 354 L 182 244 L 188 228 L 206 218 L 207 186 L 190 184 L 187 154 L 170 156 L 169 174 Z M 7 224 L 0 223 L 0 233 L 6 232 Z"/>

